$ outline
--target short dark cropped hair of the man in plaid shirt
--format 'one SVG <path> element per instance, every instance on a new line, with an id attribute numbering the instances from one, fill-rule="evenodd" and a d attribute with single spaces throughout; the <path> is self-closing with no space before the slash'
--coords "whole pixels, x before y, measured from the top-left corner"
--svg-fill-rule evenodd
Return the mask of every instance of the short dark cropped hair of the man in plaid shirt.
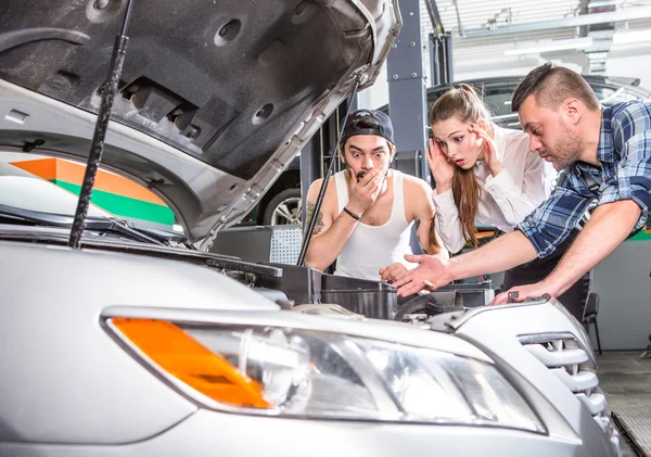
<path id="1" fill-rule="evenodd" d="M 534 96 L 538 106 L 557 111 L 569 98 L 577 98 L 590 111 L 599 110 L 599 100 L 588 82 L 576 72 L 548 62 L 532 69 L 513 91 L 511 110 Z"/>

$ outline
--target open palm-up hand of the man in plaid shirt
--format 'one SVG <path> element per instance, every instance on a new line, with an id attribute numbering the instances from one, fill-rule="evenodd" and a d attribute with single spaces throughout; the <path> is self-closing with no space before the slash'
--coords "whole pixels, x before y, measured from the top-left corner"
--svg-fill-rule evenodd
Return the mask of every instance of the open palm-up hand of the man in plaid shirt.
<path id="1" fill-rule="evenodd" d="M 449 262 L 432 255 L 406 255 L 405 259 L 420 266 L 406 271 L 393 284 L 398 288 L 399 296 L 408 296 L 423 289 L 436 290 L 452 280 Z"/>

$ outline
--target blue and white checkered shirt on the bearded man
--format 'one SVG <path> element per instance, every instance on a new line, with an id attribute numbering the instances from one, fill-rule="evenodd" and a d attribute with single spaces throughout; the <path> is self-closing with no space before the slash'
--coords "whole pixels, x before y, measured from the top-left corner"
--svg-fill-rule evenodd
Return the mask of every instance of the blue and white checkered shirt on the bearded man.
<path id="1" fill-rule="evenodd" d="M 576 162 L 563 170 L 549 199 L 516 227 L 538 257 L 551 254 L 567 238 L 595 199 L 598 204 L 633 200 L 642 210 L 636 229 L 644 226 L 651 207 L 650 101 L 602 107 L 597 158 L 601 168 Z"/>

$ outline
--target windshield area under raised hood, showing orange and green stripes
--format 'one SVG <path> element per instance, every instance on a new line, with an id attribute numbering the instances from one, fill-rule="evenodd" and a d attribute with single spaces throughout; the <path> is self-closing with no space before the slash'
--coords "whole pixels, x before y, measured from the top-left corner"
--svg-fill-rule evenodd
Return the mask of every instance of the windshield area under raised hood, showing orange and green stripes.
<path id="1" fill-rule="evenodd" d="M 68 225 L 75 215 L 84 173 L 85 165 L 73 161 L 0 151 L 0 208 L 4 220 L 14 215 L 16 220 L 30 224 Z M 88 219 L 120 223 L 157 238 L 182 236 L 174 212 L 153 192 L 102 169 L 95 179 Z"/>

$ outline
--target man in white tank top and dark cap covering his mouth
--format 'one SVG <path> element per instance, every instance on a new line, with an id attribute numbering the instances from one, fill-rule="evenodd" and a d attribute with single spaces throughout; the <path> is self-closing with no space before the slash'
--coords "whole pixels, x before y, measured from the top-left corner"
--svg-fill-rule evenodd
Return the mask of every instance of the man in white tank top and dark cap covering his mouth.
<path id="1" fill-rule="evenodd" d="M 382 112 L 359 110 L 348 116 L 340 144 L 346 169 L 330 178 L 317 215 L 305 264 L 319 270 L 336 261 L 335 275 L 393 280 L 413 265 L 411 226 L 429 254 L 447 258 L 435 233 L 431 187 L 416 177 L 391 169 L 396 148 L 391 119 Z M 322 179 L 307 193 L 311 218 Z"/>

